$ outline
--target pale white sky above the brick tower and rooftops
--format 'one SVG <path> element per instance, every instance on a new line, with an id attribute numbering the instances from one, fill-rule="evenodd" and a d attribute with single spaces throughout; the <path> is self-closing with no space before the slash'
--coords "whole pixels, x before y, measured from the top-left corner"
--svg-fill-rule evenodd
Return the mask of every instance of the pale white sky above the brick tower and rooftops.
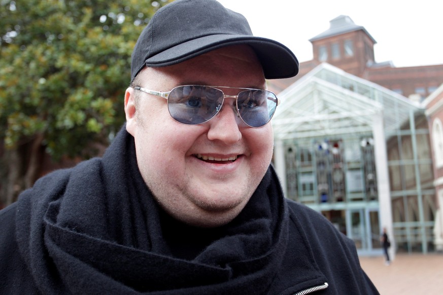
<path id="1" fill-rule="evenodd" d="M 376 62 L 396 67 L 443 64 L 440 0 L 218 0 L 243 14 L 256 36 L 289 47 L 300 62 L 313 58 L 309 39 L 329 21 L 349 16 L 376 40 Z"/>

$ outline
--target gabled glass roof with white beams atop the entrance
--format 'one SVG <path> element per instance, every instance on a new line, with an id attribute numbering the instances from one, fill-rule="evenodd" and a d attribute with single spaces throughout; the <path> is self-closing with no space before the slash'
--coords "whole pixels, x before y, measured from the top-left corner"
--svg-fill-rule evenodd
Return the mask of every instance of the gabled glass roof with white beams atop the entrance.
<path id="1" fill-rule="evenodd" d="M 276 139 L 370 132 L 374 114 L 383 113 L 385 133 L 424 112 L 415 102 L 378 84 L 323 63 L 280 93 L 272 119 Z"/>

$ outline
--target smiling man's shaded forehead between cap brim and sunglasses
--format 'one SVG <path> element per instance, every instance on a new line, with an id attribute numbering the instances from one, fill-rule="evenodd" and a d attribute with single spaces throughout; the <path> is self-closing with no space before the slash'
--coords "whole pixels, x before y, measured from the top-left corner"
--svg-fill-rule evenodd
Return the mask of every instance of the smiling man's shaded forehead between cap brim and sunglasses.
<path id="1" fill-rule="evenodd" d="M 262 66 L 255 52 L 246 45 L 213 50 L 171 66 L 146 68 L 142 77 L 151 87 L 204 84 L 263 88 L 265 85 Z"/>

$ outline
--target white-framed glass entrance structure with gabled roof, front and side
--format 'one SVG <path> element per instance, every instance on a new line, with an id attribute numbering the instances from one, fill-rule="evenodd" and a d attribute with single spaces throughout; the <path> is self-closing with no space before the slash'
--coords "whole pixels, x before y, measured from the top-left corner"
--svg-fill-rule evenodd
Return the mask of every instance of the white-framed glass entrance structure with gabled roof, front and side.
<path id="1" fill-rule="evenodd" d="M 286 196 L 334 219 L 361 253 L 380 250 L 383 227 L 397 250 L 426 252 L 436 208 L 424 108 L 327 63 L 279 98 L 274 163 Z"/>

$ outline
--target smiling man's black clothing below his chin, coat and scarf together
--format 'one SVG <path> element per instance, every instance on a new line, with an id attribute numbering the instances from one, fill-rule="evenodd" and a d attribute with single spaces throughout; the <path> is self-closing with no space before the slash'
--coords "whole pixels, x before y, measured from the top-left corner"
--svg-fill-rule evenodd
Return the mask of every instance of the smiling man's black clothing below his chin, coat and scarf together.
<path id="1" fill-rule="evenodd" d="M 2 294 L 378 294 L 352 240 L 283 198 L 269 167 L 226 226 L 163 212 L 123 129 L 101 159 L 51 173 L 0 211 Z"/>

